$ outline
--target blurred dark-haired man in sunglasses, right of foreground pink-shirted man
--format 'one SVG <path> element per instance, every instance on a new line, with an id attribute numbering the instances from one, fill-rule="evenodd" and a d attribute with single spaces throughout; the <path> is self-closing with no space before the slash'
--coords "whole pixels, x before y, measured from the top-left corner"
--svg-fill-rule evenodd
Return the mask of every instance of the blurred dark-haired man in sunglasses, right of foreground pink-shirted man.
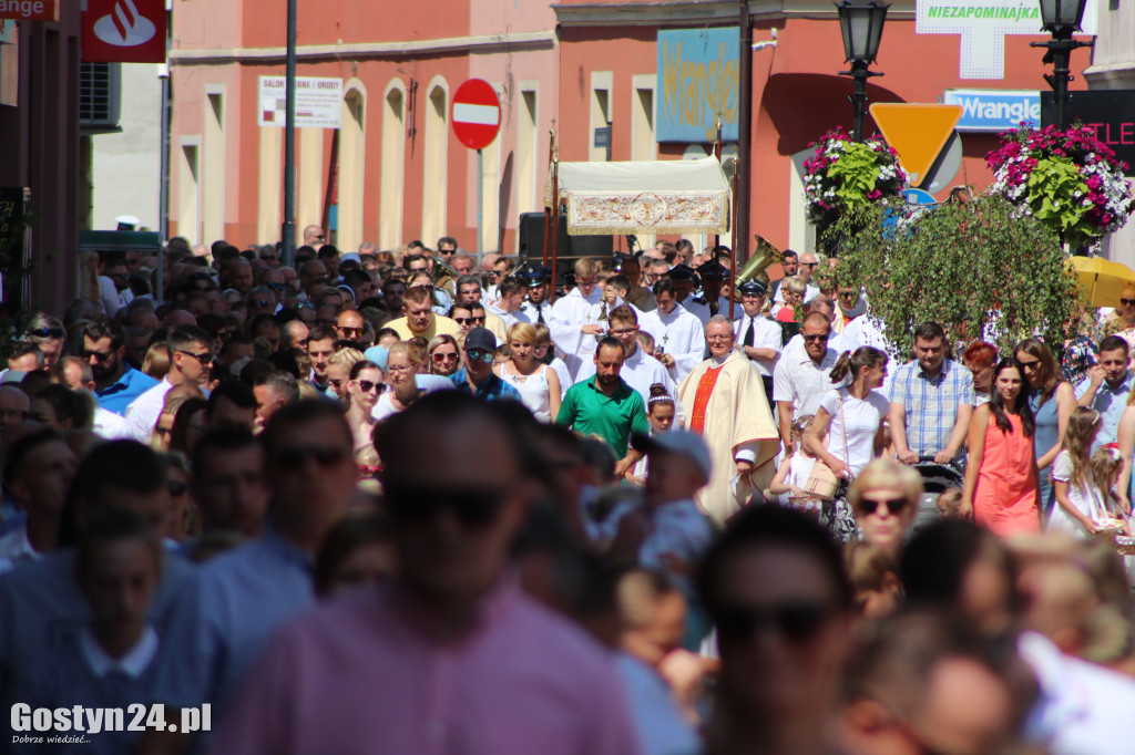
<path id="1" fill-rule="evenodd" d="M 698 588 L 717 628 L 718 752 L 844 752 L 831 716 L 854 591 L 827 533 L 792 509 L 746 507 L 709 549 Z"/>

